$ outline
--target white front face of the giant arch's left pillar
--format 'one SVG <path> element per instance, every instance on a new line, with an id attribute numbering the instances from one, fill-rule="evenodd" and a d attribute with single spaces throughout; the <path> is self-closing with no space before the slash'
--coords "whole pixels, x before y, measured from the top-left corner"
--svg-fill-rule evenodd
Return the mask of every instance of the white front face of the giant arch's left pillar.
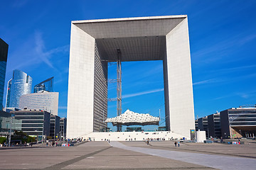
<path id="1" fill-rule="evenodd" d="M 95 39 L 71 24 L 67 136 L 93 131 Z"/>

